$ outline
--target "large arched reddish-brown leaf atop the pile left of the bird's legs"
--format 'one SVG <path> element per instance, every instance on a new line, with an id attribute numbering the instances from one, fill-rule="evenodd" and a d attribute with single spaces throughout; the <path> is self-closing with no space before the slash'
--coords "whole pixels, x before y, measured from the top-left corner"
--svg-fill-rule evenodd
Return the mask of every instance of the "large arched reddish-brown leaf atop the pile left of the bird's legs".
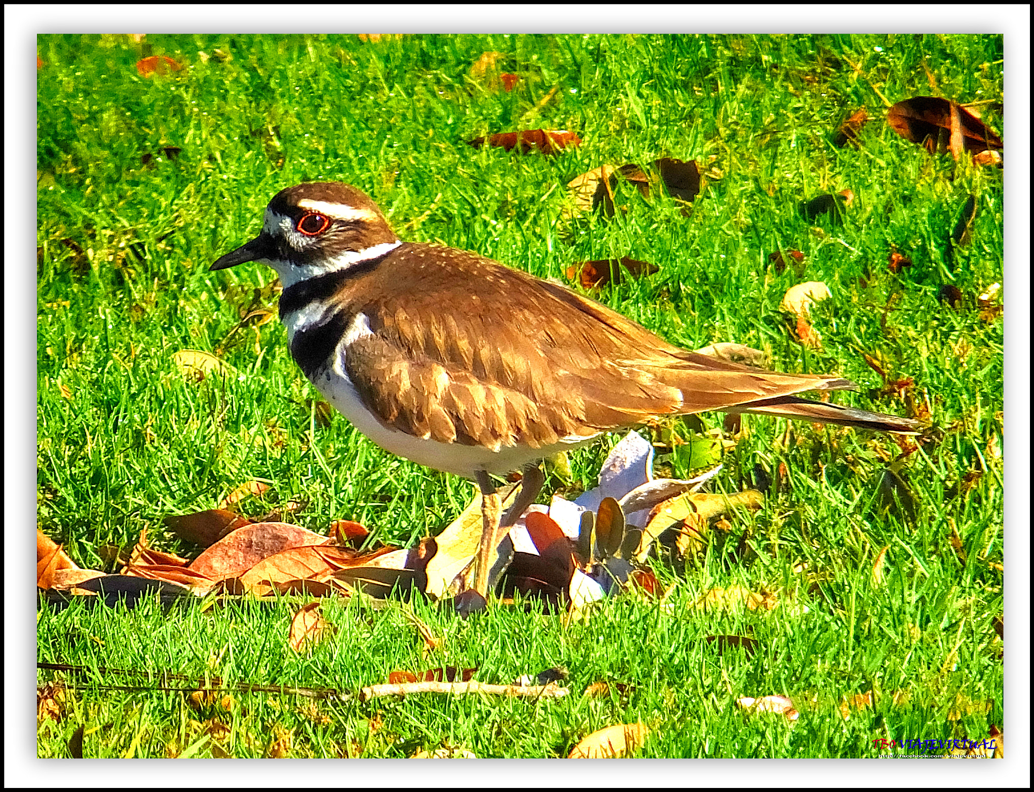
<path id="1" fill-rule="evenodd" d="M 237 577 L 263 558 L 291 548 L 326 545 L 330 538 L 286 522 L 255 522 L 232 530 L 193 559 L 190 569 L 213 580 Z M 292 577 L 306 577 L 294 575 Z"/>

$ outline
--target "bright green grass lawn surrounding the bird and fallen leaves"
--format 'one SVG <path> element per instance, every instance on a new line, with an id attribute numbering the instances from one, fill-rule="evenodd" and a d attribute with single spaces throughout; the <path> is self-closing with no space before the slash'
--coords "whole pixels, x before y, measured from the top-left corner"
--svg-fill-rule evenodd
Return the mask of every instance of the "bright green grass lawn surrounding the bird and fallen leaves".
<path id="1" fill-rule="evenodd" d="M 488 51 L 521 75 L 514 92 L 468 77 Z M 564 627 L 501 609 L 460 622 L 415 604 L 448 636 L 449 665 L 510 681 L 562 664 L 568 700 L 322 703 L 325 723 L 290 697 L 244 695 L 219 714 L 233 727 L 220 750 L 262 756 L 263 735 L 279 727 L 294 735 L 292 756 L 347 754 L 354 742 L 363 756 L 447 742 L 479 756 L 556 756 L 596 728 L 641 720 L 657 727 L 643 756 L 873 756 L 876 737 L 976 738 L 1002 723 L 992 628 L 1002 575 L 989 565 L 1003 555 L 1003 328 L 975 305 L 1003 280 L 1002 172 L 929 156 L 879 120 L 860 149 L 828 142 L 858 106 L 880 117 L 881 95 L 1000 102 L 1001 37 L 148 36 L 136 45 L 40 36 L 38 54 L 38 520 L 82 566 L 110 569 L 104 546 L 131 545 L 144 528 L 155 545 L 189 551 L 161 518 L 212 508 L 249 479 L 274 485 L 269 502 L 245 507 L 252 513 L 302 500 L 303 525 L 355 519 L 402 544 L 437 532 L 467 502 L 469 484 L 382 452 L 339 416 L 320 425 L 316 394 L 276 322 L 226 342 L 273 274 L 207 268 L 254 235 L 275 191 L 303 180 L 359 186 L 404 239 L 544 277 L 562 279 L 589 258 L 653 262 L 660 273 L 599 299 L 691 348 L 733 340 L 768 353 L 774 369 L 850 377 L 861 392 L 845 400 L 904 414 L 902 400 L 878 393 L 862 354 L 878 356 L 895 377 L 914 378 L 939 428 L 906 463 L 910 512 L 879 496 L 900 451 L 889 437 L 800 424 L 787 435 L 785 422 L 748 419 L 712 491 L 752 486 L 757 465 L 780 463 L 790 487 L 737 517 L 742 552 L 727 543 L 668 573 L 677 581 L 670 611 L 618 599 Z M 133 64 L 152 54 L 185 68 L 142 79 Z M 1001 130 L 995 108 L 982 115 Z M 574 130 L 584 144 L 546 158 L 464 143 L 536 127 Z M 164 147 L 181 152 L 170 158 Z M 611 220 L 564 217 L 574 176 L 659 156 L 701 163 L 707 185 L 690 217 L 631 192 L 628 213 Z M 842 224 L 800 216 L 802 200 L 842 189 L 855 194 Z M 971 193 L 972 243 L 949 261 L 944 240 Z M 891 244 L 914 263 L 900 275 L 886 267 Z M 768 262 L 791 248 L 807 255 L 799 278 Z M 821 352 L 793 340 L 779 311 L 798 280 L 824 281 L 833 295 L 814 311 Z M 957 311 L 937 299 L 945 283 L 966 295 Z M 186 380 L 173 361 L 183 348 L 222 348 L 238 376 Z M 703 419 L 721 426 L 721 416 Z M 547 486 L 594 486 L 613 441 L 574 455 L 572 479 Z M 668 461 L 688 473 L 680 458 Z M 960 492 L 967 474 L 978 476 Z M 875 586 L 870 567 L 885 546 L 886 584 Z M 722 616 L 689 607 L 733 584 L 779 590 L 785 607 Z M 338 637 L 300 659 L 285 644 L 286 605 L 168 616 L 42 606 L 38 654 L 307 687 L 427 667 L 397 610 L 360 618 L 353 606 L 331 608 Z M 703 639 L 721 634 L 753 635 L 763 648 L 719 656 Z M 632 692 L 581 699 L 599 678 Z M 845 722 L 839 700 L 869 690 L 884 696 Z M 894 705 L 900 690 L 911 698 Z M 803 704 L 794 728 L 744 718 L 732 703 L 772 693 Z M 991 709 L 948 720 L 959 697 Z M 369 733 L 375 715 L 384 726 Z M 86 690 L 61 723 L 40 726 L 37 748 L 63 756 L 79 725 L 112 724 L 87 734 L 88 755 L 132 747 L 164 756 L 200 738 L 190 722 L 207 717 L 182 695 Z M 211 755 L 211 744 L 197 752 Z"/>

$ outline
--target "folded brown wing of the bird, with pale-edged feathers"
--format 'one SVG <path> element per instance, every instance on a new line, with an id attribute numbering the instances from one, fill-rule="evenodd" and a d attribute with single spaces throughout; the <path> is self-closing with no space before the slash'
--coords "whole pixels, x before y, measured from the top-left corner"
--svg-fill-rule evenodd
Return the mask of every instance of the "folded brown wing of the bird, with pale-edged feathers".
<path id="1" fill-rule="evenodd" d="M 414 264 L 388 292 L 384 277 L 367 299 L 349 284 L 349 309 L 372 335 L 349 345 L 345 367 L 367 404 L 412 434 L 538 448 L 652 416 L 851 386 L 687 352 L 564 286 L 459 251 L 444 267 L 439 248 L 407 247 Z"/>

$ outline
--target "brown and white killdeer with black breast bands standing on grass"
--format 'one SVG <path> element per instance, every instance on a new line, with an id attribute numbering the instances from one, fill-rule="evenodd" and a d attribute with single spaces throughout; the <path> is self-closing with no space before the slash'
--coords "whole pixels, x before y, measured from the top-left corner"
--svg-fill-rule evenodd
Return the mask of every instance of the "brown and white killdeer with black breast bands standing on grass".
<path id="1" fill-rule="evenodd" d="M 726 412 L 910 432 L 916 422 L 796 397 L 854 388 L 688 352 L 562 285 L 477 253 L 402 242 L 366 194 L 299 184 L 262 233 L 216 261 L 280 277 L 291 355 L 324 397 L 385 450 L 474 479 L 483 496 L 475 590 L 543 484 L 538 462 L 665 415 Z M 500 519 L 491 475 L 524 471 Z"/>

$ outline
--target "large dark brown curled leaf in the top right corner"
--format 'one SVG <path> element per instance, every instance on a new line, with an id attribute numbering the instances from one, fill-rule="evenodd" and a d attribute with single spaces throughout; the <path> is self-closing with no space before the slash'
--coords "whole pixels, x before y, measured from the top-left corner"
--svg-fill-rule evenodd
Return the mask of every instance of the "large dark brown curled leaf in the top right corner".
<path id="1" fill-rule="evenodd" d="M 1001 149 L 1002 140 L 970 110 L 939 96 L 913 96 L 887 111 L 890 128 L 931 154 L 949 151 L 957 159 L 963 151 Z"/>

